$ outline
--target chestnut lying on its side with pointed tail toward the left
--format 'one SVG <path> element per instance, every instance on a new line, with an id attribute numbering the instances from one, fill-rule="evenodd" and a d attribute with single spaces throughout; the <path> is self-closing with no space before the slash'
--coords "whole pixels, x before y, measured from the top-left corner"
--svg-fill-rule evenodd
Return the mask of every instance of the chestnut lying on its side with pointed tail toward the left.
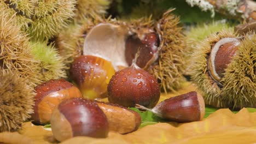
<path id="1" fill-rule="evenodd" d="M 153 109 L 136 105 L 139 109 L 149 110 L 168 121 L 201 121 L 205 116 L 205 102 L 201 94 L 193 91 L 166 99 Z"/>

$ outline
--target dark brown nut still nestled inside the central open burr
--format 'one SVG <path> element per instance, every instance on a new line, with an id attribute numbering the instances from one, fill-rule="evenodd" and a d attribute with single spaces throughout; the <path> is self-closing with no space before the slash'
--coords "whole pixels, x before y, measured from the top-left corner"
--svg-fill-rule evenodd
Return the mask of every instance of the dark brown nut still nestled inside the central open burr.
<path id="1" fill-rule="evenodd" d="M 125 43 L 125 59 L 131 65 L 138 49 L 143 55 L 138 56 L 136 64 L 140 68 L 144 68 L 148 61 L 152 59 L 154 53 L 158 51 L 159 37 L 156 33 L 146 33 L 142 38 L 138 35 L 131 35 L 126 39 Z"/>

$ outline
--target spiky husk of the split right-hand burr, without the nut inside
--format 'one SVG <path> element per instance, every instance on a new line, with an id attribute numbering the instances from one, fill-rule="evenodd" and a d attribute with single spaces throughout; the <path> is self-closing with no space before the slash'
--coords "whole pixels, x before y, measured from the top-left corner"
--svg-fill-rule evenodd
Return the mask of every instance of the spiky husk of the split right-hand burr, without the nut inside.
<path id="1" fill-rule="evenodd" d="M 255 107 L 255 40 L 250 41 L 246 38 L 238 46 L 237 55 L 225 70 L 222 88 L 212 80 L 207 68 L 212 46 L 222 38 L 236 37 L 238 35 L 232 29 L 211 34 L 201 41 L 197 46 L 197 51 L 193 53 L 191 77 L 202 93 L 206 104 L 231 109 Z M 252 79 L 248 80 L 248 76 Z"/>

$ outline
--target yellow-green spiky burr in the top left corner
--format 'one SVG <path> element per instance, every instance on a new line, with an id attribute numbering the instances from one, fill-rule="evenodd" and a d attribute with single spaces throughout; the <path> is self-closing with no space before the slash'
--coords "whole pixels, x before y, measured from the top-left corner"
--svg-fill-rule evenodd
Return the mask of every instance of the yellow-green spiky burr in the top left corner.
<path id="1" fill-rule="evenodd" d="M 11 5 L 9 5 L 9 3 Z M 75 15 L 77 1 L 2 1 L 1 13 L 14 15 L 16 23 L 22 31 L 28 33 L 33 40 L 48 40 L 55 37 L 65 28 Z M 13 6 L 12 6 L 13 5 Z"/>

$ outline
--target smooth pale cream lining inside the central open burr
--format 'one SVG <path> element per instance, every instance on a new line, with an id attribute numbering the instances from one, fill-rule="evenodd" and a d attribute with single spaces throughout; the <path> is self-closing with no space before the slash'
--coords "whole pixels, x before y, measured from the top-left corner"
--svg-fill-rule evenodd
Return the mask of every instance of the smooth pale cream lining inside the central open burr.
<path id="1" fill-rule="evenodd" d="M 85 38 L 83 55 L 92 55 L 112 62 L 115 70 L 128 67 L 125 60 L 125 39 L 129 34 L 124 26 L 100 23 Z"/>

